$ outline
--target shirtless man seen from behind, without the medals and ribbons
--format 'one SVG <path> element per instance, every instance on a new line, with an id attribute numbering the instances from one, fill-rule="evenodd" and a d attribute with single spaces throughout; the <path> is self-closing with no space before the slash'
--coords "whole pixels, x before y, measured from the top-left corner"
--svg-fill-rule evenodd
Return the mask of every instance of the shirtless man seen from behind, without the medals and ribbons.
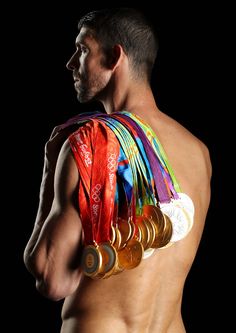
<path id="1" fill-rule="evenodd" d="M 134 269 L 107 279 L 85 276 L 79 267 L 79 174 L 66 140 L 72 128 L 58 132 L 56 127 L 45 146 L 39 208 L 25 265 L 42 295 L 65 298 L 61 333 L 184 333 L 183 287 L 210 202 L 208 149 L 158 109 L 150 87 L 157 43 L 140 13 L 120 9 L 89 14 L 79 23 L 75 45 L 67 67 L 78 100 L 98 100 L 108 114 L 127 110 L 152 127 L 182 192 L 193 200 L 194 224 L 184 239 L 155 250 Z"/>

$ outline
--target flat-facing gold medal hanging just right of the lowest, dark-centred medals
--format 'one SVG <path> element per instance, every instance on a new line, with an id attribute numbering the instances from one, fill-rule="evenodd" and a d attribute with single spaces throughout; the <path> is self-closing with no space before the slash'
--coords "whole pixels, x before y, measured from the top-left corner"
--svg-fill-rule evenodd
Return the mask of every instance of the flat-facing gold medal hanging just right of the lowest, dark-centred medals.
<path id="1" fill-rule="evenodd" d="M 125 269 L 137 267 L 143 258 L 143 245 L 137 239 L 131 239 L 126 246 L 118 251 L 119 265 Z"/>

